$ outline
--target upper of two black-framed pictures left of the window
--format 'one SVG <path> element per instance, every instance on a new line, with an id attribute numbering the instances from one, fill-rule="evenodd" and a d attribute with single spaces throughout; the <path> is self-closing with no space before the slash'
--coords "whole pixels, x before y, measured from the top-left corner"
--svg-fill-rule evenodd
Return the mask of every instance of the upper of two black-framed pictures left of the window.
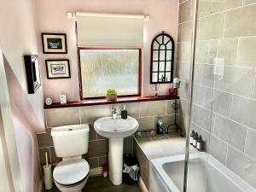
<path id="1" fill-rule="evenodd" d="M 67 37 L 64 33 L 42 33 L 44 54 L 67 54 Z"/>

